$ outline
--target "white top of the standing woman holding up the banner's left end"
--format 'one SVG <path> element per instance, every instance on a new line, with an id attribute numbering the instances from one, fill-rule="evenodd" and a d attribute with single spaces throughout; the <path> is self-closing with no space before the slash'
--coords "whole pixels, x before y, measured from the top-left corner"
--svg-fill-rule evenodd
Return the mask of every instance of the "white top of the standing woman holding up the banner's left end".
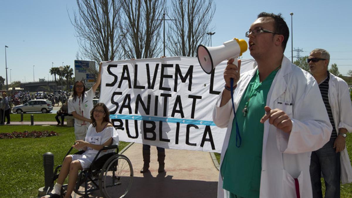
<path id="1" fill-rule="evenodd" d="M 72 112 L 76 111 L 78 115 L 90 119 L 90 111 L 92 111 L 93 109 L 94 96 L 95 96 L 95 93 L 93 91 L 93 88 L 90 88 L 88 91 L 84 92 L 83 102 L 82 102 L 82 95 L 81 97 L 77 97 L 76 101 L 73 100 L 73 97 L 69 98 L 67 101 L 68 113 L 71 114 Z M 75 125 L 76 124 L 84 125 L 89 123 L 75 118 Z"/>

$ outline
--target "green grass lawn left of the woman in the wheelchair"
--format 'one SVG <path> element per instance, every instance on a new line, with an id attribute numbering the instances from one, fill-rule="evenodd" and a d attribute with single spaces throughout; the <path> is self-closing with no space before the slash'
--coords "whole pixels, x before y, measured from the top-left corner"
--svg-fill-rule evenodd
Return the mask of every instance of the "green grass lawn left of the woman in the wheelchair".
<path id="1" fill-rule="evenodd" d="M 0 126 L 0 132 L 56 131 L 58 136 L 0 140 L 0 197 L 37 197 L 44 186 L 43 154 L 54 154 L 54 169 L 75 141 L 73 127 Z M 120 142 L 121 150 L 128 143 Z"/>

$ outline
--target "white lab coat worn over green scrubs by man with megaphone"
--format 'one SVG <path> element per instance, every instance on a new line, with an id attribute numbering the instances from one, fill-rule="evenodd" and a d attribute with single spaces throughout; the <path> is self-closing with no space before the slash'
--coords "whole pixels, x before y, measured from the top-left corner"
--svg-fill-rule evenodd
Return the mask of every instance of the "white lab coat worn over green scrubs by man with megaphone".
<path id="1" fill-rule="evenodd" d="M 236 111 L 256 70 L 257 67 L 241 74 L 234 92 Z M 230 127 L 227 128 L 222 146 L 220 167 L 230 139 L 234 117 L 231 100 L 220 107 L 221 95 L 214 107 L 213 120 L 220 128 Z M 281 69 L 270 87 L 266 105 L 287 113 L 293 126 L 291 133 L 287 134 L 269 124 L 268 120 L 264 123 L 259 197 L 296 198 L 294 178 L 297 178 L 301 197 L 310 198 L 312 197 L 310 154 L 329 141 L 332 131 L 326 109 L 323 108 L 324 103 L 318 84 L 312 75 L 292 64 L 284 56 Z M 262 114 L 265 114 L 264 109 Z M 228 197 L 228 192 L 224 192 L 222 188 L 221 173 L 218 197 Z"/>

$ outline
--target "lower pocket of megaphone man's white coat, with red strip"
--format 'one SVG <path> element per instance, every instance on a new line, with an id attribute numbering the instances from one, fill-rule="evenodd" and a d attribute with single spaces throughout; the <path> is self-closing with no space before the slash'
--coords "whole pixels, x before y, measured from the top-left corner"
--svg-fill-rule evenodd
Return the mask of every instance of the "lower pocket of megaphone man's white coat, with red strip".
<path id="1" fill-rule="evenodd" d="M 303 171 L 300 172 L 300 175 L 297 178 L 298 184 L 295 181 L 290 173 L 282 169 L 282 188 L 283 196 L 285 198 L 297 198 L 297 192 L 302 194 L 302 184 L 303 184 Z"/>

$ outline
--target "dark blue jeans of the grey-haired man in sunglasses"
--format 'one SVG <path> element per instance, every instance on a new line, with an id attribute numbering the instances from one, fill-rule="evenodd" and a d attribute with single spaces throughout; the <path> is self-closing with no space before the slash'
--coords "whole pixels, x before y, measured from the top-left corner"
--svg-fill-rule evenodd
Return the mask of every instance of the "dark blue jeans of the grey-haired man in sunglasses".
<path id="1" fill-rule="evenodd" d="M 313 198 L 321 198 L 320 172 L 325 182 L 325 198 L 340 197 L 340 153 L 336 153 L 335 139 L 327 142 L 321 149 L 313 151 L 310 159 L 310 179 L 312 181 Z"/>

